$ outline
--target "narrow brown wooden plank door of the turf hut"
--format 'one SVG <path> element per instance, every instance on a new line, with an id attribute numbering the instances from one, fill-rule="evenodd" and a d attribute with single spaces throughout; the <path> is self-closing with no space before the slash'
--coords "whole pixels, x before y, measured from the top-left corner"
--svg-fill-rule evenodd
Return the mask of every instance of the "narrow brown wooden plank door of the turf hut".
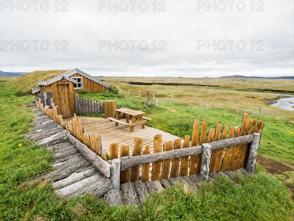
<path id="1" fill-rule="evenodd" d="M 70 103 L 70 86 L 69 84 L 57 84 L 58 87 L 58 99 L 59 99 L 59 110 L 62 117 L 73 116 L 74 110 Z"/>

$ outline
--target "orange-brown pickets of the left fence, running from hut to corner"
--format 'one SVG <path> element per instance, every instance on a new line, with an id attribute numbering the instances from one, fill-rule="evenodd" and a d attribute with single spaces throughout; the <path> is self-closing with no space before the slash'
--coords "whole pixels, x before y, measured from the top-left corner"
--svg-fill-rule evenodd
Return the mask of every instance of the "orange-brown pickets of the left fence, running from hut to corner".
<path id="1" fill-rule="evenodd" d="M 36 96 L 36 106 L 40 111 L 46 113 L 52 120 L 59 123 L 64 127 L 64 129 L 68 130 L 73 137 L 84 143 L 89 149 L 106 161 L 106 155 L 102 151 L 101 137 L 99 134 L 84 133 L 82 120 L 77 119 L 75 114 L 72 120 L 63 121 L 62 115 L 58 114 L 57 106 L 53 103 L 52 108 L 48 105 L 44 107 L 41 97 L 42 95 Z"/>

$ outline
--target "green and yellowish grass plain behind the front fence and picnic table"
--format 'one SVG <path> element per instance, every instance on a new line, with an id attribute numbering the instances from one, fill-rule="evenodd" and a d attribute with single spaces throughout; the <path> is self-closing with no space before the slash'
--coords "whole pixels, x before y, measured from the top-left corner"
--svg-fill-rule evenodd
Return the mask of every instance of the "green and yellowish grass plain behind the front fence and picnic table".
<path id="1" fill-rule="evenodd" d="M 247 112 L 251 118 L 260 118 L 266 122 L 259 153 L 272 159 L 294 166 L 294 112 L 271 107 L 268 99 L 277 95 L 258 93 L 255 91 L 238 91 L 233 89 L 196 88 L 195 86 L 161 86 L 161 85 L 129 85 L 122 86 L 125 79 L 103 79 L 113 82 L 112 86 L 121 86 L 121 94 L 84 92 L 80 96 L 97 100 L 117 100 L 117 105 L 134 110 L 144 110 L 152 118 L 149 123 L 158 129 L 183 137 L 191 135 L 193 121 L 206 120 L 209 127 L 221 123 L 230 126 L 241 126 L 242 115 Z M 136 79 L 132 79 L 135 81 Z M 140 79 L 139 79 L 140 80 Z M 182 79 L 182 81 L 187 79 Z M 138 81 L 138 79 L 137 79 Z M 287 81 L 287 85 L 293 80 Z M 155 88 L 154 88 L 155 87 Z M 128 90 L 130 95 L 128 96 Z M 148 108 L 144 102 L 147 90 L 159 100 L 158 107 Z M 141 91 L 141 97 L 139 92 Z M 171 97 L 173 95 L 173 104 Z M 206 109 L 206 102 L 209 108 Z M 262 117 L 259 107 L 262 106 Z"/>

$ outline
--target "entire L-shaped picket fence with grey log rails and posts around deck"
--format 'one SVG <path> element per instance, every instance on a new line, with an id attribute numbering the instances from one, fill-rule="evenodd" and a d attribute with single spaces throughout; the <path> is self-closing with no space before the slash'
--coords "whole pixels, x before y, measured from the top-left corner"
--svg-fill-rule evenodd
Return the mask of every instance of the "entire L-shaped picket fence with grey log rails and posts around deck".
<path id="1" fill-rule="evenodd" d="M 203 121 L 200 129 L 199 120 L 195 120 L 191 139 L 190 136 L 185 136 L 184 140 L 178 138 L 162 143 L 162 136 L 156 135 L 153 140 L 153 153 L 150 153 L 149 145 L 146 145 L 142 152 L 143 139 L 135 138 L 132 156 L 129 156 L 129 146 L 123 145 L 119 158 L 119 143 L 112 143 L 110 162 L 107 163 L 100 158 L 101 156 L 106 160 L 99 135 L 85 134 L 82 122 L 76 116 L 73 120 L 64 122 L 62 115 L 57 114 L 55 104 L 51 104 L 50 93 L 46 96 L 42 94 L 36 98 L 37 107 L 78 139 L 80 151 L 102 174 L 109 177 L 111 171 L 114 189 L 119 189 L 122 183 L 139 179 L 146 182 L 149 179 L 155 181 L 196 174 L 200 175 L 203 181 L 207 181 L 209 172 L 238 168 L 246 168 L 250 174 L 255 172 L 257 151 L 265 123 L 248 118 L 247 113 L 243 116 L 241 127 L 230 128 L 228 138 L 227 125 L 223 125 L 221 130 L 221 125 L 218 124 L 207 133 L 207 122 Z M 52 105 L 51 108 L 48 103 Z M 85 145 L 92 152 L 85 150 Z"/>

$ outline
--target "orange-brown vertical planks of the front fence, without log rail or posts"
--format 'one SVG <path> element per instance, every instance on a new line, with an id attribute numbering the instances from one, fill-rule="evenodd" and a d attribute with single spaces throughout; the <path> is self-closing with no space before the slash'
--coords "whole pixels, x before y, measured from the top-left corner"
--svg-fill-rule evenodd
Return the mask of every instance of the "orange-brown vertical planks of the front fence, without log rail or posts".
<path id="1" fill-rule="evenodd" d="M 241 127 L 232 127 L 229 130 L 228 138 L 244 136 L 254 132 L 261 134 L 264 125 L 265 123 L 263 121 L 250 119 L 248 118 L 248 114 L 245 113 Z M 221 127 L 221 125 L 218 124 L 216 128 L 209 129 L 207 133 L 207 122 L 203 121 L 202 125 L 200 125 L 199 120 L 196 120 L 193 125 L 192 138 L 190 138 L 190 136 L 185 136 L 183 146 L 181 146 L 181 139 L 162 143 L 161 135 L 156 135 L 153 140 L 154 153 L 197 146 L 201 145 L 202 143 L 209 143 L 220 139 L 226 139 L 227 129 L 227 125 L 223 125 Z M 198 133 L 199 131 L 201 131 L 200 135 Z M 192 142 L 190 142 L 190 140 L 192 140 Z M 111 146 L 114 145 L 117 148 L 116 151 L 118 151 L 119 143 L 111 144 Z M 140 138 L 135 138 L 135 146 L 136 151 L 133 153 L 133 156 L 150 153 L 149 145 L 144 147 L 142 139 Z M 249 147 L 250 143 L 220 150 L 213 150 L 210 157 L 210 172 L 230 171 L 238 168 L 245 168 L 249 154 Z M 142 149 L 144 150 L 143 152 Z M 201 154 L 198 155 L 201 156 Z M 135 182 L 139 179 L 141 179 L 143 182 L 146 182 L 149 179 L 153 181 L 159 179 L 169 179 L 171 177 L 199 174 L 201 161 L 199 162 L 198 155 L 182 157 L 181 159 L 168 159 L 162 162 L 154 162 L 151 164 L 145 164 L 127 169 L 121 172 L 121 183 L 128 181 Z M 121 157 L 123 156 L 129 156 L 128 146 L 121 146 Z M 151 170 L 149 170 L 149 167 L 151 167 Z M 149 173 L 149 171 L 152 172 Z"/>

